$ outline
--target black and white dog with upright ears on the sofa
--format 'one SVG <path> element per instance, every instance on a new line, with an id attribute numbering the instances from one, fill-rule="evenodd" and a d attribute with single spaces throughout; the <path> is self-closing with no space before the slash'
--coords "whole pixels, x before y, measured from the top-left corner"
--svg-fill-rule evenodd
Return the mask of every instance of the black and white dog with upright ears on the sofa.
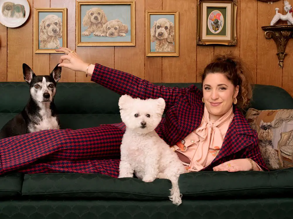
<path id="1" fill-rule="evenodd" d="M 61 78 L 58 65 L 50 75 L 36 76 L 23 63 L 23 77 L 30 86 L 30 98 L 20 114 L 9 120 L 0 130 L 0 139 L 47 129 L 59 129 L 59 117 L 54 105 L 56 84 Z"/>

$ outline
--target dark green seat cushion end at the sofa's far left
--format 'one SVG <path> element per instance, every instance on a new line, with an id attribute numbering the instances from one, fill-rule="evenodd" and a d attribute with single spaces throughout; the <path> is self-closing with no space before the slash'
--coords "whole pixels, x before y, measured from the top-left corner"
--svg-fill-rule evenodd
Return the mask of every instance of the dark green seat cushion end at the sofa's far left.
<path id="1" fill-rule="evenodd" d="M 10 198 L 21 195 L 23 174 L 10 173 L 0 176 L 0 197 Z"/>

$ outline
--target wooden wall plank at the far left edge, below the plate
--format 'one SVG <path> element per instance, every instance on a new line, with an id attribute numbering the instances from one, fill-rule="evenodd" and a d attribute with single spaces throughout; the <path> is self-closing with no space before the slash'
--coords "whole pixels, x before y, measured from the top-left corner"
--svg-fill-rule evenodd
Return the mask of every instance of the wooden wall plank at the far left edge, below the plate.
<path id="1" fill-rule="evenodd" d="M 0 24 L 0 81 L 7 81 L 7 27 Z"/>

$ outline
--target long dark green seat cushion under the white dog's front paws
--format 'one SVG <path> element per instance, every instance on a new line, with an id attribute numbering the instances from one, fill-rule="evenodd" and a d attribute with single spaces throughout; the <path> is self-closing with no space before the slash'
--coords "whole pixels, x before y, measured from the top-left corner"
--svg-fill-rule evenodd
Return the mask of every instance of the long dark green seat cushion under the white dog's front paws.
<path id="1" fill-rule="evenodd" d="M 30 197 L 168 199 L 171 182 L 156 179 L 145 183 L 137 178 L 113 178 L 102 174 L 26 174 L 22 195 Z"/>

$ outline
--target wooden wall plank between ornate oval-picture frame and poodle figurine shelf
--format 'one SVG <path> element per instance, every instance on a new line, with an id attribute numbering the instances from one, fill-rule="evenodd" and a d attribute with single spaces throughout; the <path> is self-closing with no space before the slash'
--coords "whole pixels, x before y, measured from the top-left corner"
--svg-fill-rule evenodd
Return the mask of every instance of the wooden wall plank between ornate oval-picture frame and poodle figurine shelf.
<path id="1" fill-rule="evenodd" d="M 257 66 L 257 1 L 241 2 L 240 21 L 240 57 L 251 71 L 253 82 L 256 83 Z M 249 31 L 248 31 L 249 30 Z"/>

